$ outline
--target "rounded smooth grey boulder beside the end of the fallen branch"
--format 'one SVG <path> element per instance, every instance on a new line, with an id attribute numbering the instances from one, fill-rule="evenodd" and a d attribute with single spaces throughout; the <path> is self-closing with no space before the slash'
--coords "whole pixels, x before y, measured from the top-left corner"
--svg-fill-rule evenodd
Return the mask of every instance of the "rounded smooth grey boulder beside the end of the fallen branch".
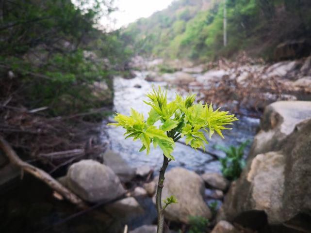
<path id="1" fill-rule="evenodd" d="M 66 183 L 74 193 L 88 202 L 111 201 L 125 193 L 114 171 L 91 159 L 71 165 Z"/>

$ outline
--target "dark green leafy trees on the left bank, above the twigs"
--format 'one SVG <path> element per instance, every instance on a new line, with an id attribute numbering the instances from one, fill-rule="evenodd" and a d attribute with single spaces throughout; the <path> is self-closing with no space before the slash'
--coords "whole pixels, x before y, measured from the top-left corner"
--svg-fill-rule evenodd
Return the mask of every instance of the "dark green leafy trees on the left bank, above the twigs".
<path id="1" fill-rule="evenodd" d="M 11 0 L 0 5 L 0 81 L 14 83 L 19 104 L 73 113 L 112 103 L 110 74 L 125 61 L 119 32 L 99 31 L 113 0 Z M 121 62 L 120 62 L 121 63 Z M 8 79 L 8 72 L 11 74 Z M 94 82 L 105 82 L 98 96 Z M 2 93 L 12 90 L 1 90 Z M 0 96 L 4 97 L 4 96 Z M 100 101 L 99 101 L 100 100 Z"/>

